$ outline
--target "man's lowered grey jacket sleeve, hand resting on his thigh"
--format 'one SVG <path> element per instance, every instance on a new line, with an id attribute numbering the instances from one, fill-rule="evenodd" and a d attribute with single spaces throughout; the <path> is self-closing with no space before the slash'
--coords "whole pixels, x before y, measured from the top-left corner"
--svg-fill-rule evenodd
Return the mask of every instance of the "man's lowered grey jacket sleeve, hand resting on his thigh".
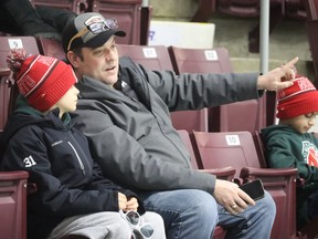
<path id="1" fill-rule="evenodd" d="M 215 176 L 147 154 L 138 141 L 114 125 L 108 114 L 92 110 L 92 105 L 77 107 L 77 113 L 81 116 L 77 126 L 88 137 L 93 158 L 105 175 L 120 181 L 123 187 L 142 190 L 197 188 L 213 193 Z M 99 118 L 98 124 L 92 124 L 92 118 Z"/>

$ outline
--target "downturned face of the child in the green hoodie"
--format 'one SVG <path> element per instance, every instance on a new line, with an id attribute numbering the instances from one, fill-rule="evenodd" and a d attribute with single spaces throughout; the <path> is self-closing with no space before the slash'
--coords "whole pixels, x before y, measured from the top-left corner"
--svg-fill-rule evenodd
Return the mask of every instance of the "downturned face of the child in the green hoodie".
<path id="1" fill-rule="evenodd" d="M 300 134 L 307 133 L 316 123 L 318 112 L 299 115 L 288 119 L 288 124 Z"/>

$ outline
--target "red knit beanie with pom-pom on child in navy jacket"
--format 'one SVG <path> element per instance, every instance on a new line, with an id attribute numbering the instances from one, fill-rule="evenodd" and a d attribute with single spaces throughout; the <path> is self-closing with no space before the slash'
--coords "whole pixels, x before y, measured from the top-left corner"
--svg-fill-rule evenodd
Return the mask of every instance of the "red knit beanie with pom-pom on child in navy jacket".
<path id="1" fill-rule="evenodd" d="M 23 49 L 14 49 L 8 55 L 7 62 L 15 73 L 20 94 L 41 112 L 52 107 L 77 82 L 72 66 L 55 58 L 25 58 Z"/>

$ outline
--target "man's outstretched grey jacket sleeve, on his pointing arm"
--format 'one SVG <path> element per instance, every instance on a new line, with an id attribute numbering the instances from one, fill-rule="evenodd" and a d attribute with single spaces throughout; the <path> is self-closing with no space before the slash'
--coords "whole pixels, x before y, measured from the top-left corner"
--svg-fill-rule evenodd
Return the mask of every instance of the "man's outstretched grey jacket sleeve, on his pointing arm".
<path id="1" fill-rule="evenodd" d="M 169 110 L 198 110 L 257 98 L 258 73 L 180 74 L 169 71 L 148 71 L 137 65 L 146 81 L 166 102 Z"/>

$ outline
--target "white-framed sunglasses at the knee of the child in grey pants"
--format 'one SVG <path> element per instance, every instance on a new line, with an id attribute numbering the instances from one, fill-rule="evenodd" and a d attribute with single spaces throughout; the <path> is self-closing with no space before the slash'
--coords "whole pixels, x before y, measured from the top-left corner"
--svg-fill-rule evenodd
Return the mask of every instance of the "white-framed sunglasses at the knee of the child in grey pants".
<path id="1" fill-rule="evenodd" d="M 119 210 L 120 216 L 129 224 L 132 229 L 134 239 L 151 238 L 153 228 L 149 224 L 144 224 L 141 216 L 134 210 L 124 212 Z"/>

